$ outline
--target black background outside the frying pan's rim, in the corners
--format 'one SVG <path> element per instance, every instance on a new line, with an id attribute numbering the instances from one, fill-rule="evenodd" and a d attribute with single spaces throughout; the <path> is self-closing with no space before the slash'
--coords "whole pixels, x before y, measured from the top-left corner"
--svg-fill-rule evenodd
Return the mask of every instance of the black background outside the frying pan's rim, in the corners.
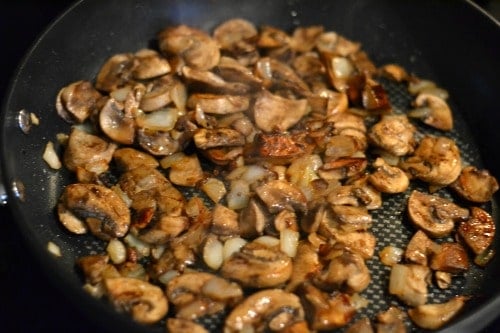
<path id="1" fill-rule="evenodd" d="M 20 0 L 0 5 L 0 98 L 36 38 L 72 1 Z M 500 19 L 500 0 L 477 3 Z M 500 42 L 500 41 L 499 41 Z M 500 314 L 500 309 L 499 309 Z M 498 327 L 498 328 L 497 328 Z M 0 331 L 99 332 L 27 252 L 8 208 L 0 206 Z M 483 332 L 500 332 L 500 320 Z"/>

